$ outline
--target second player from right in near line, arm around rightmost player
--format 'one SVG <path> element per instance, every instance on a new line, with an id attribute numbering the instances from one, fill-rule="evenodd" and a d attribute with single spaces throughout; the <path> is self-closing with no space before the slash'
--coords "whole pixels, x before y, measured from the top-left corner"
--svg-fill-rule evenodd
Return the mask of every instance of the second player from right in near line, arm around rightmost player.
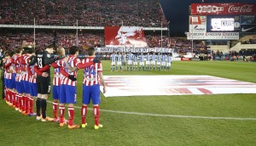
<path id="1" fill-rule="evenodd" d="M 78 68 L 85 68 L 90 65 L 93 65 L 94 63 L 97 63 L 96 60 L 93 60 L 93 62 L 84 62 L 84 65 L 81 64 L 81 61 L 79 58 L 77 58 L 79 54 L 79 48 L 76 46 L 73 46 L 69 48 L 69 56 L 65 59 L 61 59 L 58 61 L 58 65 L 61 66 L 61 98 L 60 98 L 60 126 L 64 126 L 67 124 L 66 121 L 64 121 L 64 114 L 65 114 L 65 104 L 68 104 L 68 129 L 76 129 L 80 126 L 75 125 L 73 123 L 73 117 L 74 117 L 74 104 L 76 104 L 76 85 L 77 85 L 77 70 Z M 72 68 L 72 70 L 71 70 Z"/>

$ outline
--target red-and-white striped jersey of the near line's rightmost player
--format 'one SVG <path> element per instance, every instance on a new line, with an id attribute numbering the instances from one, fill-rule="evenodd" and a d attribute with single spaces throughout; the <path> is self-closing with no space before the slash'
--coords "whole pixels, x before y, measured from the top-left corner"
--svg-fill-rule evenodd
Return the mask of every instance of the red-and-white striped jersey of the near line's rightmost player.
<path id="1" fill-rule="evenodd" d="M 88 57 L 82 60 L 82 64 L 93 62 L 93 57 Z M 96 63 L 84 68 L 84 85 L 92 86 L 99 84 L 99 72 L 102 72 L 102 63 Z"/>

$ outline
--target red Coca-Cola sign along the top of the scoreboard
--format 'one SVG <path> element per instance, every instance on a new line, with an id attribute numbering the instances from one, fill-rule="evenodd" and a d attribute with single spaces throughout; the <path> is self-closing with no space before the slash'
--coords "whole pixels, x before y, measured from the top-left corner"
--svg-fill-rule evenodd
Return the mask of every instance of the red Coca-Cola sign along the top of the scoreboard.
<path id="1" fill-rule="evenodd" d="M 191 14 L 256 14 L 256 3 L 192 3 Z"/>

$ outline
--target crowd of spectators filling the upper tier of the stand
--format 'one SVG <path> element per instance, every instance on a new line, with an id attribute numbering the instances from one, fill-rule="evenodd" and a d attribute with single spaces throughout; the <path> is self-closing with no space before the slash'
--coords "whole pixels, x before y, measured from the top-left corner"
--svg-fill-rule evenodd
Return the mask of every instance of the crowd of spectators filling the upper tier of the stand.
<path id="1" fill-rule="evenodd" d="M 2 25 L 167 26 L 158 0 L 2 0 Z"/>

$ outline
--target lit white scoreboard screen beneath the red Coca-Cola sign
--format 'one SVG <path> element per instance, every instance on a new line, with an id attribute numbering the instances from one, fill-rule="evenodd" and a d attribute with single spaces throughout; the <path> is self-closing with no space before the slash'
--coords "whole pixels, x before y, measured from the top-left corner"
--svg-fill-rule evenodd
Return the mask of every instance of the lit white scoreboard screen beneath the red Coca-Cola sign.
<path id="1" fill-rule="evenodd" d="M 207 32 L 239 32 L 240 15 L 207 15 Z"/>

